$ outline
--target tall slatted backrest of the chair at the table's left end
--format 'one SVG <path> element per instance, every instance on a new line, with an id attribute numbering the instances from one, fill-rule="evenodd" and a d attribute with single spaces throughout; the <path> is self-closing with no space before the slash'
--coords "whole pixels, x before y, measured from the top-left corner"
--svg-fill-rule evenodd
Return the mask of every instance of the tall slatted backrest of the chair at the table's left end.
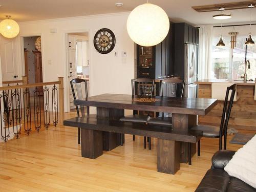
<path id="1" fill-rule="evenodd" d="M 79 79 L 75 78 L 70 81 L 70 86 L 72 89 L 72 94 L 74 99 L 82 99 L 82 98 L 88 98 L 88 87 L 87 87 L 87 80 L 86 79 Z M 85 116 L 85 112 L 87 111 L 87 114 L 89 115 L 89 106 L 82 106 L 82 105 L 75 105 L 76 106 L 76 112 L 77 116 L 80 116 L 79 109 L 81 111 L 81 115 Z M 84 108 L 87 108 L 87 110 L 84 110 Z"/>

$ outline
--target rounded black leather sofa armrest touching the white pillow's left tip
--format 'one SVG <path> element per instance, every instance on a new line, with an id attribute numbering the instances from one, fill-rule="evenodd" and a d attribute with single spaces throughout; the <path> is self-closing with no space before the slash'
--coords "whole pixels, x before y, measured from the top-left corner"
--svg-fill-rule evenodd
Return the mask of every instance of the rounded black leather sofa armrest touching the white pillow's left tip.
<path id="1" fill-rule="evenodd" d="M 224 169 L 224 167 L 227 165 L 230 159 L 232 159 L 234 153 L 236 152 L 228 150 L 220 150 L 216 152 L 214 156 L 212 156 L 211 158 L 211 168 Z"/>

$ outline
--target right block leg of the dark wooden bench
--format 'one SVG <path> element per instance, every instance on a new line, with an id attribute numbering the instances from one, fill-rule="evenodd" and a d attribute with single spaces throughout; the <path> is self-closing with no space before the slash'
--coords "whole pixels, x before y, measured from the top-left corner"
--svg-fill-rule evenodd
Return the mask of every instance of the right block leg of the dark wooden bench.
<path id="1" fill-rule="evenodd" d="M 180 169 L 180 142 L 157 139 L 157 171 L 175 174 Z"/>

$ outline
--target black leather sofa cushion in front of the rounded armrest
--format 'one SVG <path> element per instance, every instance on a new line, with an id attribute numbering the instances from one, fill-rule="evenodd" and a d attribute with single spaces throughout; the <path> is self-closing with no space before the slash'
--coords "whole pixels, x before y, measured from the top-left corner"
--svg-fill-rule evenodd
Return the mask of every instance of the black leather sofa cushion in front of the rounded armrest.
<path id="1" fill-rule="evenodd" d="M 209 169 L 197 187 L 197 192 L 221 192 L 226 191 L 229 183 L 229 175 L 223 169 Z"/>

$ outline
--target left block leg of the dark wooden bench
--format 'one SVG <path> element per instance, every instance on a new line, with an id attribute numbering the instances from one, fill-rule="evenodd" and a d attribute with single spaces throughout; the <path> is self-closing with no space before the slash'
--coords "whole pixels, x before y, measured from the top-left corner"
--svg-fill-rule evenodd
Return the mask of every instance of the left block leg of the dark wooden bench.
<path id="1" fill-rule="evenodd" d="M 102 132 L 81 129 L 82 157 L 95 159 L 102 155 Z"/>

